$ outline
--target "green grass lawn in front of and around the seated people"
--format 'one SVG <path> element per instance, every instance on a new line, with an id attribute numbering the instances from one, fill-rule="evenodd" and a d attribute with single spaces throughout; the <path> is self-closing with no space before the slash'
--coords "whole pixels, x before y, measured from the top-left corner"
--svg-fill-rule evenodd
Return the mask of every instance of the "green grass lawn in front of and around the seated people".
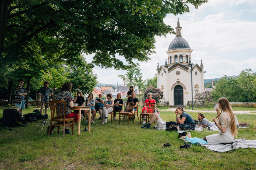
<path id="1" fill-rule="evenodd" d="M 24 109 L 24 114 L 33 109 Z M 140 111 L 139 111 L 140 112 Z M 197 113 L 188 112 L 196 119 Z M 50 111 L 48 111 L 48 115 Z M 256 115 L 236 114 L 239 122 L 248 122 L 252 127 L 238 130 L 238 139 L 256 140 Z M 0 109 L 0 118 L 3 109 Z M 161 111 L 162 120 L 174 121 L 175 113 Z M 212 120 L 216 114 L 205 114 Z M 98 119 L 99 114 L 96 114 Z M 28 123 L 26 127 L 0 127 L 0 169 L 256 169 L 256 149 L 236 149 L 230 152 L 212 152 L 193 144 L 180 150 L 184 142 L 176 131 L 166 132 L 141 129 L 134 123 L 110 122 L 100 124 L 95 120 L 91 130 L 74 135 L 53 134 L 47 136 L 47 127 L 36 130 L 40 122 Z M 84 122 L 81 129 L 85 128 Z M 11 130 L 9 130 L 11 129 Z M 216 131 L 191 132 L 192 137 L 205 137 Z M 164 143 L 172 146 L 164 148 Z"/>

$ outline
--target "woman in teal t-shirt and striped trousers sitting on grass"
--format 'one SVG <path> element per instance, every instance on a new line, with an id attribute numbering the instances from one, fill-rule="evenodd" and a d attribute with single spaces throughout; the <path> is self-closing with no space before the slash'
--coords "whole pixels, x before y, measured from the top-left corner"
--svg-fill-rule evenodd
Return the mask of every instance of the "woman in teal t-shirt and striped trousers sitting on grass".
<path id="1" fill-rule="evenodd" d="M 166 127 L 174 124 L 175 126 L 179 126 L 181 130 L 195 130 L 195 122 L 190 114 L 183 111 L 182 107 L 177 107 L 176 111 L 176 122 L 170 121 L 166 122 Z M 180 114 L 180 116 L 178 116 Z"/>

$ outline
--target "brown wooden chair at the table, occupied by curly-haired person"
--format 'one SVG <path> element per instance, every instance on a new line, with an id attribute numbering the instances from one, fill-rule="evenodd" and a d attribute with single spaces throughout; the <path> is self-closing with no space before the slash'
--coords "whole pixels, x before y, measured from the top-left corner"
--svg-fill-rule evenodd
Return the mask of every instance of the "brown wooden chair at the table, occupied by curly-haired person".
<path id="1" fill-rule="evenodd" d="M 50 110 L 51 110 L 51 123 L 48 136 L 50 135 L 52 126 L 58 126 L 58 134 L 59 134 L 59 127 L 63 126 L 63 138 L 65 137 L 65 126 L 72 125 L 72 135 L 74 129 L 74 118 L 65 118 L 65 106 L 66 101 L 49 101 L 50 103 Z M 63 115 L 62 115 L 63 114 Z M 65 122 L 71 121 L 71 123 L 65 124 Z M 58 122 L 61 124 L 53 124 L 53 122 Z"/>

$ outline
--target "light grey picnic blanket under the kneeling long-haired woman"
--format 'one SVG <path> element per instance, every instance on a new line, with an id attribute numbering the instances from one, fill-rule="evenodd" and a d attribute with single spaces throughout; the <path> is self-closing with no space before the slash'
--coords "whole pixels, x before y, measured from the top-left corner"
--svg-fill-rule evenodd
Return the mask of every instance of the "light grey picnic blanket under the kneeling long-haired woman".
<path id="1" fill-rule="evenodd" d="M 246 139 L 234 139 L 233 144 L 221 144 L 221 143 L 200 143 L 197 145 L 205 146 L 207 149 L 216 152 L 227 152 L 237 148 L 256 148 L 256 140 L 246 140 Z"/>

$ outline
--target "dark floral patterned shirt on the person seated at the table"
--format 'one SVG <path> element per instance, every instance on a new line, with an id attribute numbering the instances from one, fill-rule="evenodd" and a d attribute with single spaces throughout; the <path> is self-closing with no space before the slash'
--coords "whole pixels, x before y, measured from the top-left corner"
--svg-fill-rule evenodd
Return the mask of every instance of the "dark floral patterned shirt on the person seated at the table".
<path id="1" fill-rule="evenodd" d="M 74 101 L 73 95 L 70 92 L 65 91 L 65 90 L 62 91 L 62 92 L 59 92 L 59 94 L 57 94 L 57 96 L 56 96 L 56 101 L 61 101 L 61 100 L 66 101 L 65 115 L 70 114 L 71 113 L 71 108 L 70 108 L 69 102 Z M 62 108 L 62 109 L 64 109 L 64 108 Z"/>

